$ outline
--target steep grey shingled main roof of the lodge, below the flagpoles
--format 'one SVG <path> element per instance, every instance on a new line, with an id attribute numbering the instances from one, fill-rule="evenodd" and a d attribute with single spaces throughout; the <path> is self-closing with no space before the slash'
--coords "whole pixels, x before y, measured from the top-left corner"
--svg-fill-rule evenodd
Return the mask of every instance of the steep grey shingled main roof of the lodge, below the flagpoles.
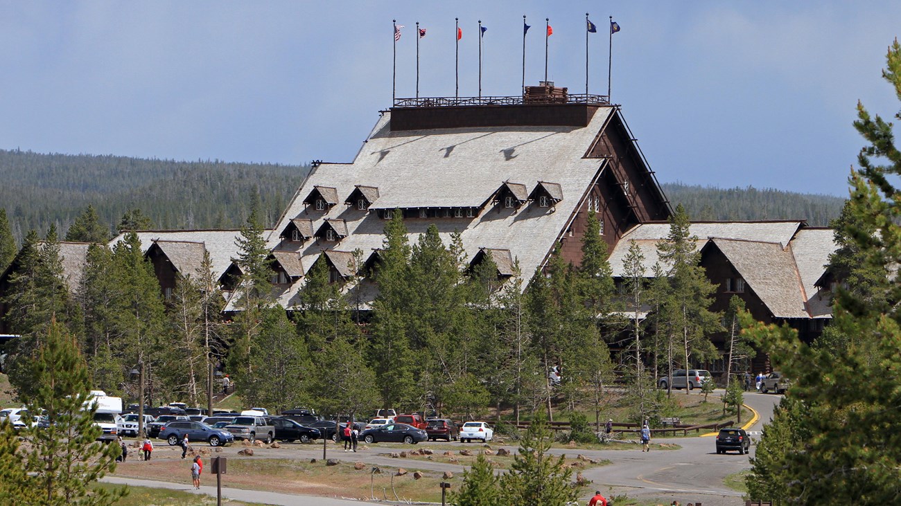
<path id="1" fill-rule="evenodd" d="M 448 128 L 420 131 L 392 131 L 391 113 L 383 113 L 369 139 L 350 164 L 323 163 L 313 171 L 287 206 L 275 230 L 285 230 L 287 222 L 304 212 L 304 199 L 315 187 L 333 187 L 337 194 L 349 195 L 360 186 L 378 187 L 378 200 L 369 212 L 344 206 L 322 214 L 311 213 L 314 230 L 325 219 L 343 219 L 347 237 L 341 249 L 364 252 L 382 247 L 387 221 L 372 210 L 411 208 L 481 208 L 472 218 L 405 219 L 411 243 L 429 225 L 435 224 L 445 244 L 451 233 L 460 230 L 463 248 L 472 258 L 485 245 L 498 245 L 518 258 L 525 276 L 542 265 L 581 203 L 569 198 L 557 204 L 556 212 L 527 205 L 515 213 L 484 207 L 505 181 L 528 186 L 553 181 L 560 194 L 583 195 L 604 170 L 606 158 L 585 158 L 604 125 L 616 114 L 613 107 L 598 107 L 587 127 L 504 126 Z M 532 182 L 532 183 L 529 183 Z M 523 186 L 520 195 L 528 199 Z M 270 236 L 278 241 L 278 233 Z M 324 241 L 304 245 L 283 243 L 279 248 L 296 248 L 309 269 L 320 251 L 333 246 Z M 524 285 L 524 284 L 523 284 Z M 524 287 L 523 287 L 524 289 Z"/>

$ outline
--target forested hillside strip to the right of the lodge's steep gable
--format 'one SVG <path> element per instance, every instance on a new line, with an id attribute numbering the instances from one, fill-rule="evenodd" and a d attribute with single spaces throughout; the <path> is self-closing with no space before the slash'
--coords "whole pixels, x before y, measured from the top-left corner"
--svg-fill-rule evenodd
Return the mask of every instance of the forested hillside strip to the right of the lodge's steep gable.
<path id="1" fill-rule="evenodd" d="M 664 183 L 663 192 L 673 204 L 685 206 L 696 221 L 805 219 L 825 227 L 838 218 L 845 199 L 834 195 L 800 194 L 772 188 L 714 188 Z"/>

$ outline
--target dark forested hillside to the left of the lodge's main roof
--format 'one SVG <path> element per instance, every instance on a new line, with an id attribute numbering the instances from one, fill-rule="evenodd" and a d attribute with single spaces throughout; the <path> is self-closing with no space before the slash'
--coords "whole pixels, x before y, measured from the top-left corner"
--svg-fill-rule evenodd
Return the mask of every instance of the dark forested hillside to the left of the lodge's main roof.
<path id="1" fill-rule="evenodd" d="M 28 230 L 43 236 L 50 223 L 65 236 L 88 204 L 111 228 L 134 208 L 159 229 L 237 228 L 247 219 L 252 195 L 258 194 L 265 225 L 271 226 L 308 170 L 0 150 L 0 208 L 20 243 Z"/>

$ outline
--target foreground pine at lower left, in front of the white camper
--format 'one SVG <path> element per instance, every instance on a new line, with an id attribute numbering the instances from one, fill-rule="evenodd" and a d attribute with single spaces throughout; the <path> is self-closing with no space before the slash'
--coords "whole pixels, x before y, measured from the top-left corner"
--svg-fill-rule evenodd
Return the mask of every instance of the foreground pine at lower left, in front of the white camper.
<path id="1" fill-rule="evenodd" d="M 120 449 L 96 440 L 100 429 L 94 425 L 96 405 L 90 402 L 85 360 L 75 339 L 56 321 L 50 321 L 41 341 L 31 380 L 35 388 L 33 393 L 23 394 L 23 401 L 31 413 L 46 411 L 50 420 L 46 428 L 25 429 L 27 444 L 20 448 L 29 484 L 41 491 L 37 503 L 105 505 L 118 501 L 124 489 L 88 489 L 114 471 Z M 86 404 L 91 408 L 85 409 Z"/>

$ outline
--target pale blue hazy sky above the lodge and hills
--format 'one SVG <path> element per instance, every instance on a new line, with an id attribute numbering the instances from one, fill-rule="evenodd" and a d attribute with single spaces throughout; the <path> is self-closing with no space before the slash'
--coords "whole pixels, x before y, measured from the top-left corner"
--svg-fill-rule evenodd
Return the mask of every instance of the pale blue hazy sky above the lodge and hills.
<path id="1" fill-rule="evenodd" d="M 0 0 L 0 149 L 300 164 L 350 161 L 397 96 L 517 95 L 544 75 L 613 101 L 661 181 L 847 194 L 861 100 L 898 111 L 880 77 L 901 2 L 59 2 Z"/>

